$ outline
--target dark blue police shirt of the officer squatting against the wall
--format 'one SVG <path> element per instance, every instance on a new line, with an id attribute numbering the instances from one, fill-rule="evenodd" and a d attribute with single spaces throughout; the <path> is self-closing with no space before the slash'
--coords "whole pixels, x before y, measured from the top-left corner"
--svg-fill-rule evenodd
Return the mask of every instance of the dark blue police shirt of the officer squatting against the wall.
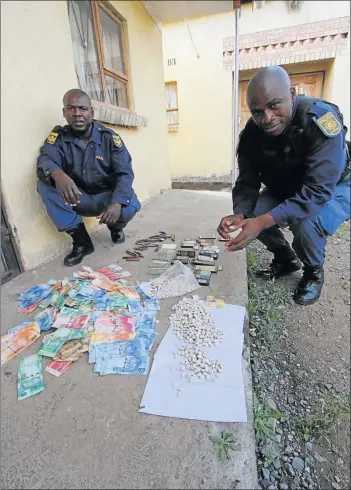
<path id="1" fill-rule="evenodd" d="M 87 194 L 112 191 L 111 202 L 127 206 L 133 195 L 134 174 L 131 156 L 121 138 L 96 122 L 90 141 L 84 145 L 70 126 L 56 126 L 40 150 L 37 174 L 63 170 Z"/>

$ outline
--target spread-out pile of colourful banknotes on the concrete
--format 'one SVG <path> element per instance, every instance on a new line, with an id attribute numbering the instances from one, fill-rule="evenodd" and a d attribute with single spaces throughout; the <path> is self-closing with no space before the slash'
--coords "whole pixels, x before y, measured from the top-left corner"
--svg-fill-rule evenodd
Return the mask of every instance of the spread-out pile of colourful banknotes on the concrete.
<path id="1" fill-rule="evenodd" d="M 50 358 L 45 371 L 56 377 L 85 352 L 101 376 L 147 374 L 160 306 L 129 276 L 117 264 L 98 271 L 83 267 L 19 295 L 18 310 L 35 316 L 1 338 L 1 364 L 45 335 L 37 354 L 20 360 L 18 400 L 44 390 L 43 357 Z"/>

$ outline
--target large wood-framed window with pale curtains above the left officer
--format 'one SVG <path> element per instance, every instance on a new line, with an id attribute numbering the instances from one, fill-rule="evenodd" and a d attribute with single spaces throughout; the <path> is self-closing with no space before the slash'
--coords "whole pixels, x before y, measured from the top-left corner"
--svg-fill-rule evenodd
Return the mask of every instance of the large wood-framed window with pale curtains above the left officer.
<path id="1" fill-rule="evenodd" d="M 124 26 L 102 2 L 69 0 L 79 87 L 92 100 L 129 109 Z"/>

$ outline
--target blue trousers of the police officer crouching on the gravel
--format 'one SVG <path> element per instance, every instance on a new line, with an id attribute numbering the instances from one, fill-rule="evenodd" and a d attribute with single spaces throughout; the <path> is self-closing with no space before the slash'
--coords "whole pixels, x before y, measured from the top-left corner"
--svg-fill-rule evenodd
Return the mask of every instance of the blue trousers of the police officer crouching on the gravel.
<path id="1" fill-rule="evenodd" d="M 254 215 L 262 216 L 279 204 L 280 202 L 270 195 L 269 190 L 264 189 L 260 192 Z M 317 215 L 289 226 L 294 236 L 292 248 L 301 262 L 310 266 L 322 265 L 328 236 L 334 235 L 339 226 L 349 218 L 350 182 L 348 181 L 336 186 L 332 199 Z M 289 247 L 278 226 L 264 230 L 257 239 L 273 253 L 279 248 Z"/>

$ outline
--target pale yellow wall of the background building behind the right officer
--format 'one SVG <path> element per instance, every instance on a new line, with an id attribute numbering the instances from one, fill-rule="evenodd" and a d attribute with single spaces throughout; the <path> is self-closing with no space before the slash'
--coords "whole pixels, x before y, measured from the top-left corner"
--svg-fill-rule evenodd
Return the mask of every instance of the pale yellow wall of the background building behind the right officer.
<path id="1" fill-rule="evenodd" d="M 242 7 L 240 34 L 350 15 L 346 1 L 304 1 L 289 12 L 286 2 Z M 166 81 L 178 85 L 179 131 L 169 133 L 172 177 L 229 173 L 232 162 L 232 73 L 222 68 L 223 38 L 233 35 L 233 14 L 224 13 L 163 24 Z M 176 58 L 175 66 L 167 66 Z M 325 71 L 323 96 L 340 106 L 350 127 L 350 43 L 335 60 L 287 65 L 289 73 Z M 240 73 L 247 80 L 254 71 Z"/>

